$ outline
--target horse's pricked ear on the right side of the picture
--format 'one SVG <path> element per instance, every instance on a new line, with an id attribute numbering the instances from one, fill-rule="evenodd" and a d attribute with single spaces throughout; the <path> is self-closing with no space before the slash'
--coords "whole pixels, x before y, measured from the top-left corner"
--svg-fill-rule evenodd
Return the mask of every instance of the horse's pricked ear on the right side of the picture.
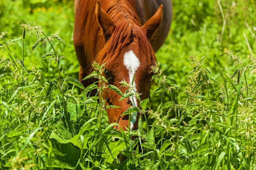
<path id="1" fill-rule="evenodd" d="M 148 21 L 142 26 L 142 28 L 146 30 L 146 34 L 149 40 L 161 23 L 162 10 L 163 10 L 163 5 L 160 5 L 157 11 L 155 12 L 155 14 L 151 18 L 149 18 Z"/>

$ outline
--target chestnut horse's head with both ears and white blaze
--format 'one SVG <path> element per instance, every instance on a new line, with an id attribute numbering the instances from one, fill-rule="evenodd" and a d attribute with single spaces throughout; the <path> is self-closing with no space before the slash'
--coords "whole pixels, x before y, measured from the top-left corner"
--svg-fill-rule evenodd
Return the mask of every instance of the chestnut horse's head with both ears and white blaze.
<path id="1" fill-rule="evenodd" d="M 125 93 L 128 87 L 120 84 L 125 81 L 130 84 L 130 92 L 139 93 L 142 100 L 149 95 L 151 66 L 157 62 L 149 40 L 161 22 L 162 5 L 142 26 L 139 18 L 130 13 L 128 10 L 120 16 L 114 17 L 113 14 L 110 17 L 97 1 L 97 20 L 104 35 L 105 44 L 97 53 L 96 61 L 100 64 L 106 63 L 103 76 L 108 79 L 108 82 L 104 82 L 104 86 L 112 84 Z M 99 83 L 99 86 L 102 84 Z M 118 123 L 120 127 L 115 128 L 126 130 L 129 125 L 129 115 L 121 115 L 130 107 L 139 107 L 139 101 L 135 95 L 120 100 L 119 94 L 106 89 L 101 97 L 106 100 L 106 106 L 119 106 L 119 108 L 107 108 L 109 123 Z M 131 113 L 130 116 L 130 130 L 137 129 L 139 113 Z"/>

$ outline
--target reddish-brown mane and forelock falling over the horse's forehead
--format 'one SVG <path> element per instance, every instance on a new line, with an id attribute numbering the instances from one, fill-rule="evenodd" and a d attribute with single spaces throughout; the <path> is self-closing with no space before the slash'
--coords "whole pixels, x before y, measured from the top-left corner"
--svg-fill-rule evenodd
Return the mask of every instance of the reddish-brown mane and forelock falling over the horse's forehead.
<path id="1" fill-rule="evenodd" d="M 95 61 L 99 64 L 113 62 L 122 48 L 136 40 L 139 42 L 140 53 L 142 51 L 142 53 L 149 55 L 147 60 L 154 65 L 156 62 L 154 51 L 146 36 L 146 30 L 141 27 L 134 3 L 127 0 L 120 1 L 108 0 L 102 3 L 102 7 L 114 21 L 116 27 L 112 33 L 114 36 L 111 36 L 103 46 L 103 49 L 97 53 Z"/>

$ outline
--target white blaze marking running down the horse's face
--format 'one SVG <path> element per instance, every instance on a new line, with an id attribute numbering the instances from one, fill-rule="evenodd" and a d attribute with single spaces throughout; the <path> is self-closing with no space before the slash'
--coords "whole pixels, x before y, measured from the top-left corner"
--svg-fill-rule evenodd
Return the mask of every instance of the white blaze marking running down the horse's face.
<path id="1" fill-rule="evenodd" d="M 140 64 L 139 59 L 135 55 L 135 53 L 133 53 L 132 50 L 130 50 L 124 54 L 124 65 L 126 66 L 126 68 L 128 70 L 130 85 L 132 85 L 134 93 L 136 92 L 136 88 L 135 88 L 136 84 L 135 84 L 135 81 L 132 81 L 132 80 L 135 76 L 135 73 L 136 73 L 138 67 L 139 67 L 139 64 Z M 132 103 L 132 107 L 138 106 L 135 95 L 132 95 L 130 97 L 130 101 Z M 137 119 L 137 112 L 131 113 L 130 130 L 132 130 L 132 128 L 136 122 L 136 119 Z"/>

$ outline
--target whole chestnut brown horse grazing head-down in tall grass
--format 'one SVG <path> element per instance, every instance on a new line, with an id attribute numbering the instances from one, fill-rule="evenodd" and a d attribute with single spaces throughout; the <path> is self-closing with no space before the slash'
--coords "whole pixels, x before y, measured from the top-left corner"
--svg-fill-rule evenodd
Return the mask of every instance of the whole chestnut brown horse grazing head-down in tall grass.
<path id="1" fill-rule="evenodd" d="M 152 74 L 150 66 L 156 63 L 155 53 L 164 43 L 172 20 L 171 0 L 76 0 L 74 47 L 80 64 L 79 80 L 90 74 L 92 62 L 104 64 L 108 84 L 123 93 L 127 87 L 145 99 L 149 93 Z M 81 81 L 86 87 L 92 79 Z M 99 84 L 101 86 L 101 84 Z M 118 123 L 126 130 L 129 115 L 120 116 L 129 107 L 138 107 L 131 96 L 119 101 L 120 95 L 112 90 L 103 91 L 108 108 L 109 123 Z M 139 114 L 132 113 L 130 129 L 137 129 Z"/>

